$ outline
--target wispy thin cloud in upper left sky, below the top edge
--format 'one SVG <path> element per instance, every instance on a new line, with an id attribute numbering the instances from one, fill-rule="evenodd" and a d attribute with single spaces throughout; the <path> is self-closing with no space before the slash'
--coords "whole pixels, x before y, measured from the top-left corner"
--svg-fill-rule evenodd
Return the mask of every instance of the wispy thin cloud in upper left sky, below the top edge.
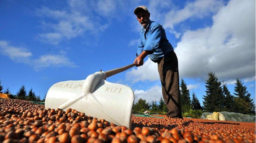
<path id="1" fill-rule="evenodd" d="M 42 7 L 37 10 L 38 16 L 49 17 L 56 21 L 55 23 L 42 22 L 45 28 L 48 28 L 48 33 L 39 34 L 40 40 L 53 45 L 59 44 L 63 38 L 71 39 L 81 36 L 85 31 L 93 31 L 99 24 L 79 12 L 67 12 L 66 10 L 51 10 L 47 7 Z"/>

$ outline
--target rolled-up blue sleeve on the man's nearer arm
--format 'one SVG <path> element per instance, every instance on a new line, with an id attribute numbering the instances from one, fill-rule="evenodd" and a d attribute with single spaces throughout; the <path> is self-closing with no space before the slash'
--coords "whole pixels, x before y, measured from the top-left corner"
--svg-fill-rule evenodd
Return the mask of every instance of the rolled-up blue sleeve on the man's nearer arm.
<path id="1" fill-rule="evenodd" d="M 151 54 L 157 50 L 161 41 L 162 28 L 160 25 L 156 25 L 151 30 L 147 37 L 147 42 L 143 51 L 151 51 Z"/>

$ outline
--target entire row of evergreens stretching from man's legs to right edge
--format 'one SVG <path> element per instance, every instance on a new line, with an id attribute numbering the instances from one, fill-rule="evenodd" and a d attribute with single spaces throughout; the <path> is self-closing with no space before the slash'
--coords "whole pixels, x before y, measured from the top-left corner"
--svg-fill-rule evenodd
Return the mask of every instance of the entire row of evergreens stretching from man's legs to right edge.
<path id="1" fill-rule="evenodd" d="M 208 79 L 205 82 L 206 95 L 203 96 L 203 107 L 195 95 L 192 93 L 190 99 L 190 91 L 183 79 L 180 83 L 180 101 L 182 113 L 192 110 L 204 110 L 204 112 L 235 112 L 255 115 L 255 105 L 251 94 L 248 93 L 246 86 L 237 79 L 234 87 L 234 95 L 228 91 L 226 84 L 218 81 L 214 73 L 208 73 Z"/>

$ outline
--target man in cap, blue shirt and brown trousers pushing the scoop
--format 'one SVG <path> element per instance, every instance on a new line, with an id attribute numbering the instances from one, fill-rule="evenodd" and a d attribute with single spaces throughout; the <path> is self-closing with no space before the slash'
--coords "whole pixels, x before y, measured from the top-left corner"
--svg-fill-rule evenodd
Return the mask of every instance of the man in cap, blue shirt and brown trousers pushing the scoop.
<path id="1" fill-rule="evenodd" d="M 146 6 L 134 9 L 137 20 L 143 26 L 140 32 L 140 42 L 134 63 L 137 67 L 143 65 L 143 59 L 148 57 L 158 64 L 158 72 L 162 83 L 162 93 L 169 109 L 166 116 L 182 118 L 179 96 L 178 59 L 172 45 L 166 38 L 162 25 L 149 19 L 150 13 Z"/>

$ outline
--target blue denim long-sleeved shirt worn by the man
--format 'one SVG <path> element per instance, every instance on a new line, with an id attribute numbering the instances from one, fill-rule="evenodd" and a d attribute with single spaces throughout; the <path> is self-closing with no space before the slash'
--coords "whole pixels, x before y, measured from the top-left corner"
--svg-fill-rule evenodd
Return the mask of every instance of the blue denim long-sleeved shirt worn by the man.
<path id="1" fill-rule="evenodd" d="M 136 56 L 139 56 L 142 51 L 150 51 L 148 57 L 155 63 L 158 59 L 173 51 L 171 43 L 166 38 L 163 26 L 151 20 L 149 20 L 146 31 L 144 27 L 141 29 L 140 42 L 137 48 Z"/>

